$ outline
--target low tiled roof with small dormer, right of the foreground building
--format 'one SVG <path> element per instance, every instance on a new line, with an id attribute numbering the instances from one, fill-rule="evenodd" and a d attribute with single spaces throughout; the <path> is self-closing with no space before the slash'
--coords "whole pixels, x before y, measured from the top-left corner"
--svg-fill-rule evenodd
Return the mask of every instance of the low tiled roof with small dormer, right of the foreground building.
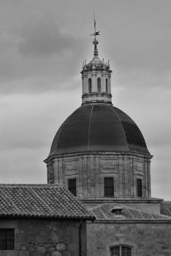
<path id="1" fill-rule="evenodd" d="M 115 207 L 122 207 L 120 215 L 112 213 Z M 89 209 L 99 221 L 171 221 L 171 217 L 133 209 L 121 204 L 104 203 Z"/>

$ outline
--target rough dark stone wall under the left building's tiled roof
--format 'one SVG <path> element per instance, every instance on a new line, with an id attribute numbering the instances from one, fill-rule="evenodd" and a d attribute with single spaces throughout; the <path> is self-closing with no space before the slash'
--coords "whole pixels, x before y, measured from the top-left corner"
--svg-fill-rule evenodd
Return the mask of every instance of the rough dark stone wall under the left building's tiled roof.
<path id="1" fill-rule="evenodd" d="M 14 228 L 15 251 L 0 251 L 0 256 L 79 256 L 79 226 L 73 220 L 1 220 L 0 228 Z M 81 240 L 86 256 L 85 221 Z"/>

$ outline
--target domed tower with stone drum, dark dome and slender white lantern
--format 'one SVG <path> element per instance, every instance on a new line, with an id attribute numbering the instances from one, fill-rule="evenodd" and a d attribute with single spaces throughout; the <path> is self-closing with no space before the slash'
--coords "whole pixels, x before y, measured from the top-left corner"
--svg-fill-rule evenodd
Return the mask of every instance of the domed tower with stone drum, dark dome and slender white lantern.
<path id="1" fill-rule="evenodd" d="M 65 185 L 83 203 L 150 198 L 150 159 L 136 123 L 111 102 L 110 64 L 83 62 L 82 106 L 60 126 L 47 164 L 48 183 Z"/>

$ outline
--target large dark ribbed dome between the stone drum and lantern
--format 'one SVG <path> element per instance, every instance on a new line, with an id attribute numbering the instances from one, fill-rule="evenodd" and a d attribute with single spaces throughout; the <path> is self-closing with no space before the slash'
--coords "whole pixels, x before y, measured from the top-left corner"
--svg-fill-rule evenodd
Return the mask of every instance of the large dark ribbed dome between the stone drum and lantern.
<path id="1" fill-rule="evenodd" d="M 82 105 L 60 126 L 48 157 L 80 151 L 131 151 L 150 155 L 135 122 L 105 103 Z"/>

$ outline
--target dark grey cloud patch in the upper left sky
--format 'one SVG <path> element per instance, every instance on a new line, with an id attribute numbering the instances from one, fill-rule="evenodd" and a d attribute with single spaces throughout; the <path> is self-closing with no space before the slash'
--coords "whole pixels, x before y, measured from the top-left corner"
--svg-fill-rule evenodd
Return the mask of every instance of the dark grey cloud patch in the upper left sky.
<path id="1" fill-rule="evenodd" d="M 36 24 L 26 24 L 20 29 L 19 52 L 26 57 L 49 57 L 65 55 L 73 51 L 74 39 L 62 34 L 55 23 L 39 20 Z M 46 61 L 43 58 L 43 61 Z"/>

